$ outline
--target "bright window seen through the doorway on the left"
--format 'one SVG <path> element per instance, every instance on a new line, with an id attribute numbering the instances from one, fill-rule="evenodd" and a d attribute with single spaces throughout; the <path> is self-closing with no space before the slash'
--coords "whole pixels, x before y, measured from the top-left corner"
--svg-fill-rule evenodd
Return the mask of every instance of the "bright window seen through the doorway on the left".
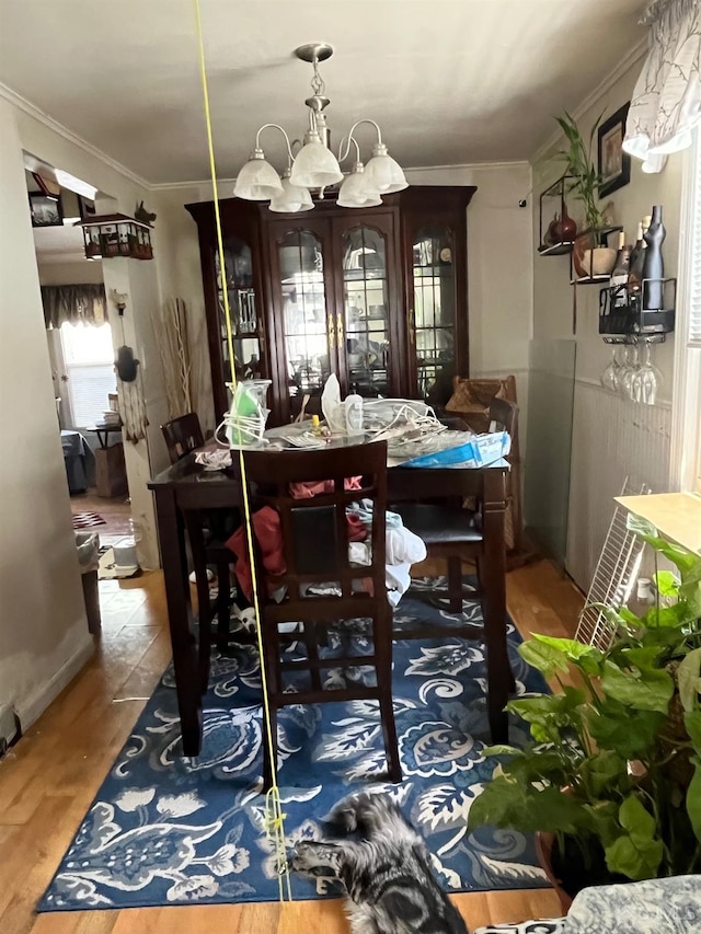
<path id="1" fill-rule="evenodd" d="M 72 426 L 85 428 L 102 422 L 110 407 L 108 393 L 117 388 L 112 328 L 108 324 L 62 324 L 61 345 Z"/>

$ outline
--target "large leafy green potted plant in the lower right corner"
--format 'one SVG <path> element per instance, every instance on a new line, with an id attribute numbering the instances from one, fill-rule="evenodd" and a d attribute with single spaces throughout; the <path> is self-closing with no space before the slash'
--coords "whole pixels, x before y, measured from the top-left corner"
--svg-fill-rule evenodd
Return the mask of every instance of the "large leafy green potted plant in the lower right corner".
<path id="1" fill-rule="evenodd" d="M 602 608 L 606 650 L 542 635 L 519 647 L 559 690 L 509 703 L 532 741 L 485 750 L 504 760 L 469 816 L 539 832 L 565 912 L 588 885 L 701 870 L 701 558 L 637 517 L 629 528 L 678 576 L 655 575 L 644 616 Z"/>

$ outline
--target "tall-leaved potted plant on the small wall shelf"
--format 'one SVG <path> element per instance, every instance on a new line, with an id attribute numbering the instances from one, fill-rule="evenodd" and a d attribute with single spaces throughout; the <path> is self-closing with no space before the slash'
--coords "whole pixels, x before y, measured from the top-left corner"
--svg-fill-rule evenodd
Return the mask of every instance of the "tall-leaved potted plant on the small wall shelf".
<path id="1" fill-rule="evenodd" d="M 570 175 L 570 191 L 574 192 L 584 208 L 586 229 L 575 242 L 575 268 L 582 278 L 608 276 L 616 264 L 616 250 L 607 246 L 602 238 L 607 223 L 598 206 L 601 178 L 593 158 L 594 141 L 601 117 L 591 127 L 588 142 L 585 142 L 575 118 L 568 113 L 556 117 L 556 120 L 565 135 L 567 147 L 556 152 L 555 159 L 564 162 L 565 174 Z"/>

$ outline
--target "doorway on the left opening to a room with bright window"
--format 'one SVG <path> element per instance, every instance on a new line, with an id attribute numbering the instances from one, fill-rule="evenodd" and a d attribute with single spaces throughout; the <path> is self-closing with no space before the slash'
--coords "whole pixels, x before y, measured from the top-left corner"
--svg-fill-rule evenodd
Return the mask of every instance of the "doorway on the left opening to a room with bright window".
<path id="1" fill-rule="evenodd" d="M 80 180 L 83 194 L 59 185 L 54 169 L 26 153 L 25 166 L 73 529 L 77 544 L 96 537 L 103 577 L 104 557 L 134 530 L 102 261 L 85 258 L 80 227 L 94 215 L 85 188 L 94 189 Z"/>

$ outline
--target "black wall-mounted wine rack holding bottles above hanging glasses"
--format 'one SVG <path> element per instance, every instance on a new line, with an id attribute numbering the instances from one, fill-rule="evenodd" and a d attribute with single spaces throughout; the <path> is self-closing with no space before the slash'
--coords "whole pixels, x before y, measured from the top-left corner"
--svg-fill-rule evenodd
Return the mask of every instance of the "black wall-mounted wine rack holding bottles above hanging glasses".
<path id="1" fill-rule="evenodd" d="M 663 308 L 643 308 L 648 287 L 662 288 Z M 606 344 L 663 344 L 675 330 L 676 279 L 643 279 L 635 291 L 628 284 L 599 291 L 599 334 Z"/>

